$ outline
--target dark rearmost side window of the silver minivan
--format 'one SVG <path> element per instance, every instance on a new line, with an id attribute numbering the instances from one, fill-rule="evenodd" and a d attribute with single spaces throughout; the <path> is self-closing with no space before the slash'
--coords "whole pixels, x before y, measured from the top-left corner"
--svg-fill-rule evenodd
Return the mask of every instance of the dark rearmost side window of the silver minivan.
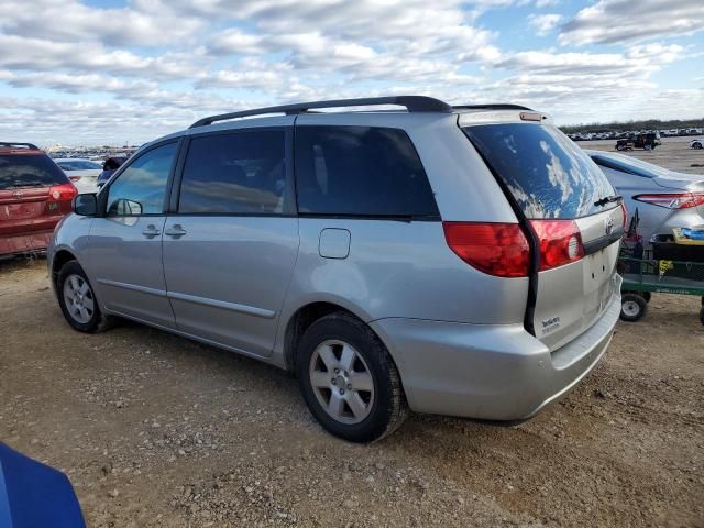
<path id="1" fill-rule="evenodd" d="M 374 127 L 297 127 L 301 213 L 437 217 L 408 135 Z"/>

